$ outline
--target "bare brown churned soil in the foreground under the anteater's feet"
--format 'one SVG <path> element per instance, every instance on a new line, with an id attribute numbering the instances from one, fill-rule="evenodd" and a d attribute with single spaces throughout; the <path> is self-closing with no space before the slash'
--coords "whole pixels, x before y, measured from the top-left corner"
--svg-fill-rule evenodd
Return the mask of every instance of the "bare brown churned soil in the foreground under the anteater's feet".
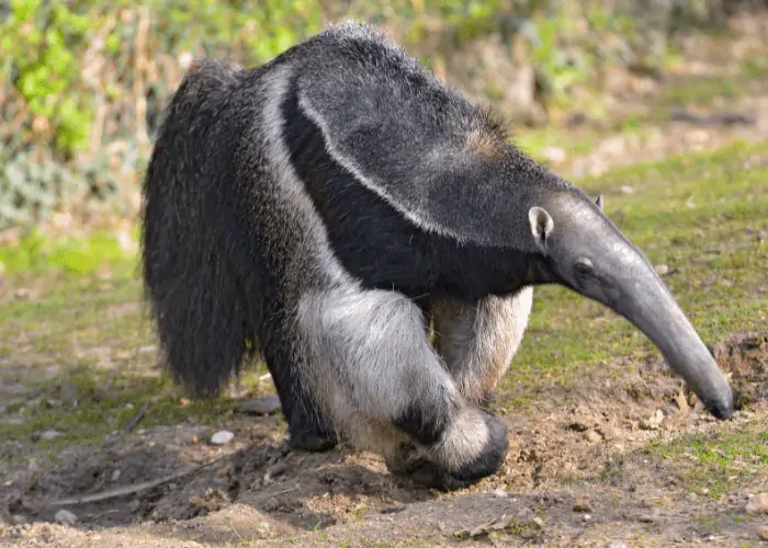
<path id="1" fill-rule="evenodd" d="M 116 530 L 144 532 L 144 540 L 131 537 L 126 546 L 166 546 L 142 544 L 147 538 L 168 546 L 182 546 L 180 539 L 216 545 L 244 538 L 267 544 L 291 539 L 300 546 L 366 539 L 447 544 L 462 530 L 478 535 L 465 538 L 466 544 L 487 543 L 488 535 L 551 546 L 605 546 L 637 535 L 685 544 L 718 532 L 720 546 L 754 540 L 755 525 L 748 520 L 713 525 L 718 516 L 743 514 L 745 493 L 691 499 L 676 487 L 674 470 L 633 453 L 651 439 L 765 423 L 768 333 L 734 335 L 712 351 L 738 395 L 741 410 L 733 421 L 707 414 L 662 359 L 603 364 L 575 373 L 580 380 L 567 393 L 552 387 L 520 412 L 498 409 L 510 431 L 505 466 L 497 476 L 450 494 L 393 477 L 371 454 L 346 447 L 325 454 L 290 452 L 284 441 L 269 435 L 280 430 L 276 416 L 231 418 L 227 427 L 237 442 L 230 446 L 207 444 L 208 426 L 180 425 L 151 429 L 108 449 L 71 449 L 47 466 L 31 459 L 0 486 L 7 524 L 0 528 L 0 545 L 41 535 L 63 541 L 64 530 L 69 532 L 66 546 L 93 541 L 93 535 L 103 546 L 120 546 Z M 47 505 L 217 458 L 207 468 L 136 492 Z M 583 504 L 575 511 L 577 501 Z M 74 512 L 77 523 L 46 523 L 55 521 L 60 507 Z M 499 520 L 508 522 L 502 530 L 486 527 Z"/>

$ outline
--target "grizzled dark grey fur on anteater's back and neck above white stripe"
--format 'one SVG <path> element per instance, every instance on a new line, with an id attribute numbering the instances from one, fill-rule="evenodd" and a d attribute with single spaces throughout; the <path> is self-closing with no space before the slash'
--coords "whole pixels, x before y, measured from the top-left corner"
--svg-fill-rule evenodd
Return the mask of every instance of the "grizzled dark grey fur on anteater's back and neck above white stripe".
<path id="1" fill-rule="evenodd" d="M 326 144 L 386 194 L 389 215 L 394 207 L 453 244 L 513 242 L 535 252 L 522 238 L 527 217 L 512 212 L 551 192 L 586 197 L 513 147 L 490 111 L 373 31 L 321 33 L 276 62 L 297 67 L 295 85 L 306 104 L 321 109 Z M 490 155 L 466 146 L 473 133 Z M 355 182 L 355 191 L 362 186 Z"/>

